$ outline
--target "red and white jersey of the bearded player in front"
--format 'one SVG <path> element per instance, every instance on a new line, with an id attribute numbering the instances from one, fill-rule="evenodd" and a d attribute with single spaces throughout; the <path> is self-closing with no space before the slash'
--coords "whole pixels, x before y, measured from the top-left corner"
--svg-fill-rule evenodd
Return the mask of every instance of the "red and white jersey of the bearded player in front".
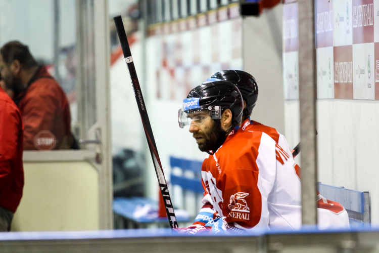
<path id="1" fill-rule="evenodd" d="M 232 132 L 202 165 L 213 209 L 222 219 L 212 230 L 301 225 L 300 180 L 295 160 L 267 134 Z"/>

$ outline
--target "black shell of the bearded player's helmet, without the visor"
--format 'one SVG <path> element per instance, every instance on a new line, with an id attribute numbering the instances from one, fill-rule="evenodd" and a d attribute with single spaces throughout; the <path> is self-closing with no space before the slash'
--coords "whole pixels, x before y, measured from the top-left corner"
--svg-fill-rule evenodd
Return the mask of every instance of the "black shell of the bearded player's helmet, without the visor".
<path id="1" fill-rule="evenodd" d="M 202 85 L 191 90 L 187 98 L 200 98 L 200 106 L 220 106 L 221 113 L 225 109 L 232 112 L 232 125 L 229 129 L 239 125 L 242 120 L 243 100 L 241 92 L 230 81 L 203 82 Z M 227 132 L 229 132 L 227 131 Z"/>

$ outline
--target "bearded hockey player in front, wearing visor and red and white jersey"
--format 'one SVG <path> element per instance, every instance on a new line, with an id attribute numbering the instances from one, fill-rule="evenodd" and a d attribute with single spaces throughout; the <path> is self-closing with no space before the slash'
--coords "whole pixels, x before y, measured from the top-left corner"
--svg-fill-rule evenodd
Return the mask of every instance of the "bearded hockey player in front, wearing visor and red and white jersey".
<path id="1" fill-rule="evenodd" d="M 241 93 L 229 81 L 210 81 L 189 92 L 179 125 L 189 126 L 201 151 L 203 202 L 210 222 L 181 231 L 243 232 L 254 228 L 301 226 L 300 180 L 295 160 L 267 134 L 236 131 L 242 120 Z"/>

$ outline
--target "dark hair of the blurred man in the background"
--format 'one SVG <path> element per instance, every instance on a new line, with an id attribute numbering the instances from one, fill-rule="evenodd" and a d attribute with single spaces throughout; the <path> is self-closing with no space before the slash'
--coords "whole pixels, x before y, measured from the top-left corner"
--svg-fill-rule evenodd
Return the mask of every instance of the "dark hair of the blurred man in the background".
<path id="1" fill-rule="evenodd" d="M 31 68 L 37 64 L 34 57 L 29 52 L 29 47 L 13 40 L 6 43 L 1 49 L 0 54 L 6 64 L 11 64 L 12 61 L 18 60 L 24 68 Z"/>

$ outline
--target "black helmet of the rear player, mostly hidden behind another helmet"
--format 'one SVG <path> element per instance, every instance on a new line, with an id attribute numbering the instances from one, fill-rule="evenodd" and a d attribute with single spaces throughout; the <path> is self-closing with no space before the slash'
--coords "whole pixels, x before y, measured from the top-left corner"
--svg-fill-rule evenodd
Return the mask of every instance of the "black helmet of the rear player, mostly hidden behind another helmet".
<path id="1" fill-rule="evenodd" d="M 242 98 L 246 101 L 244 115 L 250 116 L 258 100 L 258 85 L 254 76 L 242 70 L 222 70 L 214 73 L 210 80 L 213 78 L 231 81 L 238 87 Z"/>

